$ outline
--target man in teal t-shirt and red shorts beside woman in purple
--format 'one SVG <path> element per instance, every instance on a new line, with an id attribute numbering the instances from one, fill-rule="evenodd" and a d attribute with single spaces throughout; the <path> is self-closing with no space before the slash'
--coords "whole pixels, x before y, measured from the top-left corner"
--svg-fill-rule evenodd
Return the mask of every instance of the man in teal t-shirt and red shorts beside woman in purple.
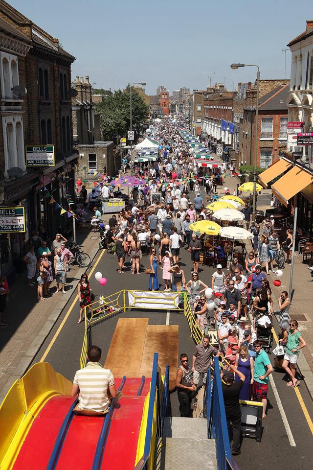
<path id="1" fill-rule="evenodd" d="M 268 405 L 268 376 L 273 372 L 273 366 L 270 363 L 268 354 L 262 349 L 262 343 L 259 339 L 253 343 L 256 356 L 254 358 L 254 375 L 252 385 L 253 400 L 262 401 L 263 416 L 266 418 L 266 408 Z"/>

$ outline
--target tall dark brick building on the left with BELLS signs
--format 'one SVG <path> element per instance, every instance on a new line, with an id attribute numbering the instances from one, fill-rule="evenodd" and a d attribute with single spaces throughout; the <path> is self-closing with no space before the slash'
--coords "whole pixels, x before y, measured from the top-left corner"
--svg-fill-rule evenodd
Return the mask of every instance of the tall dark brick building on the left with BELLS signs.
<path id="1" fill-rule="evenodd" d="M 24 206 L 25 234 L 2 234 L 1 273 L 22 269 L 30 233 L 43 223 L 49 236 L 69 230 L 67 214 L 49 204 L 50 194 L 68 208 L 74 193 L 70 67 L 75 58 L 5 1 L 0 1 L 0 198 Z M 27 93 L 14 94 L 12 88 Z M 15 89 L 17 90 L 17 89 Z M 18 93 L 18 92 L 17 92 Z M 24 145 L 54 145 L 55 165 L 26 167 Z"/>

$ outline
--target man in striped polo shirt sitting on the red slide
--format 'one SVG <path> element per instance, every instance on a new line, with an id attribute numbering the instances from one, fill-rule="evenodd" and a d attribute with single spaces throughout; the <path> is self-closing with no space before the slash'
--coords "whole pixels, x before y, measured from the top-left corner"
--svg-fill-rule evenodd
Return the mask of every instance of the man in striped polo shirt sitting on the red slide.
<path id="1" fill-rule="evenodd" d="M 99 361 L 101 349 L 91 346 L 87 352 L 86 367 L 76 372 L 71 395 L 79 394 L 78 408 L 82 410 L 105 411 L 110 406 L 109 395 L 116 397 L 114 377 L 109 369 L 104 369 Z"/>

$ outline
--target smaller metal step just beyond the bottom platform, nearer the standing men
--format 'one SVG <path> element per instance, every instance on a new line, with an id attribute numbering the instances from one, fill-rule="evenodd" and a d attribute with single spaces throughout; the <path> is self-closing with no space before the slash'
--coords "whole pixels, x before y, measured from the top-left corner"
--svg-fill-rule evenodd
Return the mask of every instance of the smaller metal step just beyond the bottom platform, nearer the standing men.
<path id="1" fill-rule="evenodd" d="M 204 418 L 165 418 L 163 437 L 207 439 L 207 421 Z"/>

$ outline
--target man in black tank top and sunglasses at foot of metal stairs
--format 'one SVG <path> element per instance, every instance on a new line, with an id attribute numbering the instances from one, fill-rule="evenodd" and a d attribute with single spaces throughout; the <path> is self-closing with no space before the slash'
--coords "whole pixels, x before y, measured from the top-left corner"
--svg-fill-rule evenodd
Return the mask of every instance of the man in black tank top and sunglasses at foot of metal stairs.
<path id="1" fill-rule="evenodd" d="M 192 393 L 196 390 L 193 382 L 193 373 L 188 365 L 188 356 L 180 354 L 180 366 L 176 374 L 176 388 L 179 400 L 179 413 L 182 418 L 190 417 Z"/>

